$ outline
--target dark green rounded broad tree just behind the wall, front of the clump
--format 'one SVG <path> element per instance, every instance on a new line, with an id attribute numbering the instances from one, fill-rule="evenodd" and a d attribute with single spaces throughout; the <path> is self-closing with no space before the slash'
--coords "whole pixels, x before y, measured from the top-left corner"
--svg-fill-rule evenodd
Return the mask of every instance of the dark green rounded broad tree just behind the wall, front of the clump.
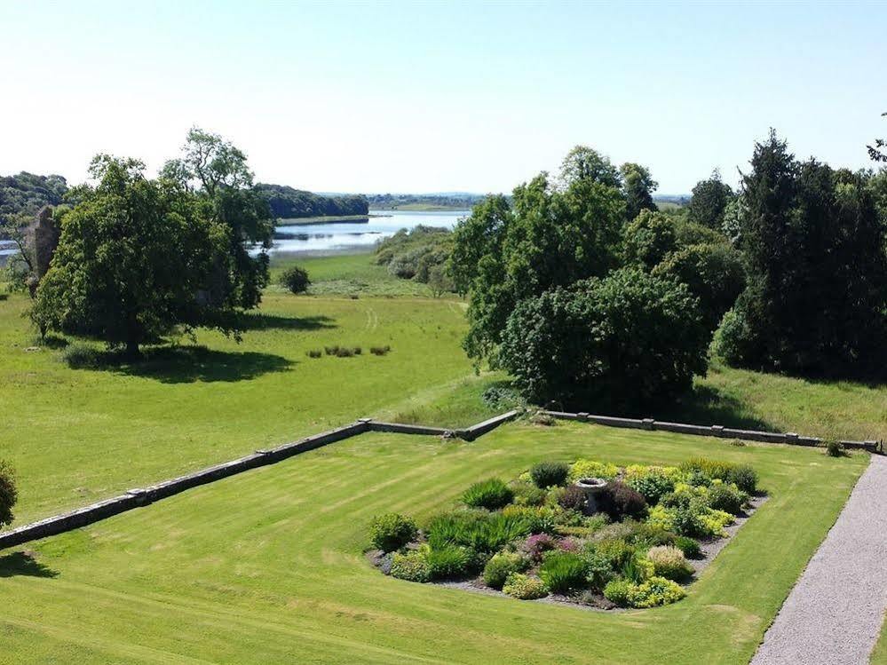
<path id="1" fill-rule="evenodd" d="M 633 411 L 689 389 L 708 343 L 685 285 L 622 268 L 520 302 L 500 364 L 536 403 Z"/>

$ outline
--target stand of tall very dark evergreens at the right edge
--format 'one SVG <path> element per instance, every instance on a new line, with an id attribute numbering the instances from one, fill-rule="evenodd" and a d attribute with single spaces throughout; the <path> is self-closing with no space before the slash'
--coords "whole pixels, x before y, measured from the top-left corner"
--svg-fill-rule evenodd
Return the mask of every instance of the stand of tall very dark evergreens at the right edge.
<path id="1" fill-rule="evenodd" d="M 884 221 L 866 172 L 797 162 L 772 133 L 743 178 L 748 288 L 718 335 L 733 364 L 883 378 Z"/>

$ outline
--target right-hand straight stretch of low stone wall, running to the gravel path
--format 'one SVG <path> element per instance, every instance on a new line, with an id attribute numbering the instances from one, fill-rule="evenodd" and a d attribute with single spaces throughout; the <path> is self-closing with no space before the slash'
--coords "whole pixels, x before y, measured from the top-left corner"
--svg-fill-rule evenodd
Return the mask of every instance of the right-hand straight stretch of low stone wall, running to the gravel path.
<path id="1" fill-rule="evenodd" d="M 763 441 L 764 443 L 787 443 L 792 446 L 819 446 L 822 439 L 805 437 L 793 431 L 775 432 L 758 430 L 737 430 L 723 425 L 694 425 L 686 423 L 669 423 L 653 418 L 615 418 L 613 416 L 595 416 L 588 413 L 570 413 L 567 411 L 545 411 L 549 416 L 562 420 L 576 420 L 582 423 L 594 423 L 607 427 L 625 427 L 634 430 L 674 431 L 679 434 L 694 436 L 718 437 L 722 439 L 740 439 L 746 441 Z M 839 443 L 845 448 L 867 450 L 870 453 L 883 453 L 883 443 L 878 441 L 842 440 Z"/>

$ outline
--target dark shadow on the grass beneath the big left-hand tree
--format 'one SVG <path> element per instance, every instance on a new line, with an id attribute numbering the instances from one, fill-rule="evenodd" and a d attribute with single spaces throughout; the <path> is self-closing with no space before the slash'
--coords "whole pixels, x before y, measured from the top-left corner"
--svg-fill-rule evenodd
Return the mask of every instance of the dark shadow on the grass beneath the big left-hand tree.
<path id="1" fill-rule="evenodd" d="M 247 381 L 291 368 L 292 360 L 273 353 L 224 352 L 205 346 L 160 346 L 146 349 L 143 358 L 111 367 L 127 376 L 151 378 L 162 384 L 197 381 Z"/>

